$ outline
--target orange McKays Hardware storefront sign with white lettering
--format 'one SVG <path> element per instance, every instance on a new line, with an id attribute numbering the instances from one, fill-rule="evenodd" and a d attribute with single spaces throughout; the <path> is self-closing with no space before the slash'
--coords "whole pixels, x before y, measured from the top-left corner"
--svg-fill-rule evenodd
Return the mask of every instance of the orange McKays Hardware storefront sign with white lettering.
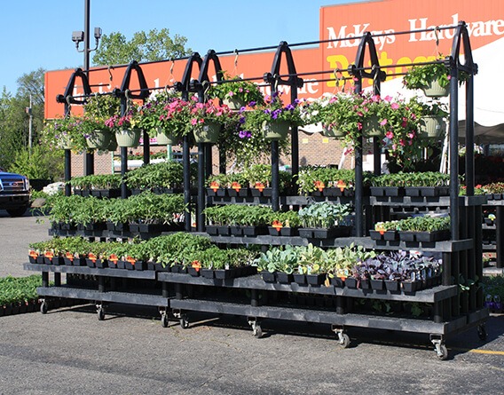
<path id="1" fill-rule="evenodd" d="M 293 49 L 295 67 L 298 73 L 327 71 L 323 75 L 303 75 L 304 86 L 299 90 L 300 98 L 318 97 L 326 91 L 335 91 L 337 70 L 346 70 L 354 61 L 360 43 L 360 36 L 372 32 L 382 66 L 397 65 L 386 69 L 389 74 L 403 73 L 407 65 L 434 59 L 438 53 L 450 54 L 453 43 L 453 29 L 443 29 L 464 20 L 468 24 L 472 50 L 502 40 L 504 36 L 504 2 L 496 0 L 382 0 L 358 4 L 341 4 L 320 8 L 319 39 L 315 48 Z M 439 27 L 437 31 L 410 32 L 410 30 Z M 390 33 L 395 35 L 390 36 Z M 280 37 L 281 38 L 281 37 Z M 309 34 L 307 40 L 311 39 Z M 219 49 L 216 51 L 218 52 Z M 221 49 L 222 50 L 222 49 Z M 225 49 L 224 49 L 225 50 Z M 473 57 L 480 67 L 480 73 L 488 67 L 486 63 L 500 65 L 501 51 L 493 51 L 492 59 Z M 201 56 L 204 53 L 201 52 Z M 256 77 L 261 82 L 262 75 L 271 71 L 274 51 L 240 54 L 235 67 L 235 56 L 220 58 L 224 70 L 247 78 Z M 185 60 L 141 65 L 149 87 L 169 86 L 182 79 Z M 193 78 L 198 77 L 198 67 L 194 67 Z M 117 88 L 122 83 L 126 67 L 107 69 L 91 68 L 90 83 L 93 91 L 103 92 Z M 45 117 L 52 118 L 63 113 L 64 106 L 56 102 L 67 86 L 73 70 L 50 71 L 45 75 Z M 336 72 L 336 73 L 335 73 Z M 212 75 L 214 74 L 214 75 Z M 280 69 L 287 74 L 287 67 Z M 210 67 L 210 78 L 215 79 L 215 70 Z M 343 75 L 347 75 L 343 72 Z M 348 75 L 347 75 L 348 76 Z M 391 78 L 390 78 L 391 79 Z M 329 80 L 329 81 L 320 81 Z M 135 78 L 130 89 L 135 89 Z M 495 88 L 495 87 L 494 87 Z M 289 87 L 280 91 L 288 93 Z M 268 88 L 264 88 L 269 93 Z M 82 94 L 76 86 L 74 95 Z"/>

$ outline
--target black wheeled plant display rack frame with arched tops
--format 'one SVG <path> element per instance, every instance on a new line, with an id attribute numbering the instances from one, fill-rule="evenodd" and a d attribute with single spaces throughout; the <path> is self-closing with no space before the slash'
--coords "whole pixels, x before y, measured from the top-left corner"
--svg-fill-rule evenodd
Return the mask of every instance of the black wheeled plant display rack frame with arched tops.
<path id="1" fill-rule="evenodd" d="M 457 76 L 459 71 L 476 74 L 476 65 L 472 62 L 472 55 L 469 45 L 469 33 L 462 22 L 454 28 L 453 53 L 447 67 L 451 73 L 451 99 L 450 107 L 450 156 L 452 158 L 450 174 L 449 196 L 388 196 L 381 197 L 366 196 L 364 190 L 363 170 L 362 170 L 362 136 L 358 137 L 355 146 L 355 185 L 351 194 L 341 196 L 280 196 L 280 172 L 279 172 L 279 141 L 273 138 L 272 146 L 272 185 L 271 191 L 267 195 L 256 196 L 223 196 L 217 194 L 217 188 L 213 194 L 205 188 L 206 176 L 211 171 L 208 169 L 209 143 L 198 144 L 198 195 L 196 204 L 196 223 L 199 233 L 205 232 L 204 209 L 207 205 L 224 204 L 258 204 L 266 203 L 273 211 L 279 211 L 280 207 L 295 206 L 303 207 L 312 201 L 336 201 L 340 203 L 350 203 L 354 212 L 354 237 L 327 237 L 317 239 L 302 235 L 282 236 L 282 235 L 211 235 L 209 238 L 217 245 L 228 248 L 229 246 L 252 246 L 261 245 L 264 249 L 269 246 L 315 246 L 323 249 L 335 249 L 337 247 L 349 246 L 351 243 L 365 247 L 366 249 L 376 249 L 381 251 L 397 250 L 418 250 L 426 254 L 436 254 L 442 259 L 442 274 L 440 283 L 430 284 L 428 288 L 411 289 L 398 288 L 396 290 L 379 288 L 350 288 L 346 286 L 329 283 L 328 280 L 320 280 L 318 283 L 310 284 L 297 283 L 293 280 L 282 283 L 280 281 L 268 282 L 261 274 L 247 273 L 236 278 L 207 278 L 202 275 L 192 276 L 188 273 L 172 273 L 158 270 L 128 271 L 124 269 L 99 269 L 79 266 L 65 265 L 43 265 L 26 264 L 25 268 L 43 273 L 43 287 L 38 292 L 43 297 L 42 312 L 46 312 L 51 297 L 69 297 L 94 301 L 97 304 L 98 319 L 103 320 L 106 303 L 118 302 L 126 304 L 146 304 L 158 306 L 161 312 L 161 323 L 168 325 L 169 315 L 179 320 L 182 328 L 190 327 L 190 312 L 211 312 L 233 314 L 246 317 L 249 325 L 256 337 L 263 335 L 263 320 L 291 320 L 303 322 L 318 322 L 330 325 L 335 332 L 339 344 L 348 347 L 350 337 L 348 330 L 352 327 L 390 329 L 412 333 L 426 334 L 430 337 L 430 342 L 434 345 L 437 358 L 446 359 L 448 352 L 445 347 L 445 340 L 449 336 L 477 328 L 478 335 L 484 339 L 486 337 L 485 321 L 488 318 L 488 310 L 484 307 L 483 290 L 478 285 L 477 279 L 483 276 L 482 262 L 482 233 L 481 217 L 482 205 L 486 203 L 485 197 L 473 196 L 474 177 L 471 169 L 467 171 L 468 196 L 459 197 L 459 180 L 457 174 L 457 137 L 458 137 L 458 86 Z M 459 51 L 461 45 L 464 49 L 465 63 L 461 64 Z M 366 49 L 370 53 L 372 67 L 365 67 Z M 280 62 L 284 56 L 287 59 L 288 78 L 281 78 Z M 208 68 L 209 63 L 216 67 L 217 75 L 221 71 L 217 54 L 209 51 L 205 59 L 201 60 L 199 55 L 194 54 L 188 59 L 185 75 L 182 82 L 177 84 L 177 88 L 183 91 L 183 99 L 187 99 L 188 93 L 204 93 L 204 84 L 209 83 Z M 190 82 L 193 65 L 198 65 L 201 69 L 200 78 L 196 82 Z M 407 66 L 407 65 L 406 65 Z M 386 75 L 378 62 L 374 40 L 371 34 L 362 37 L 358 46 L 358 54 L 355 65 L 350 67 L 350 74 L 356 81 L 357 91 L 362 89 L 362 79 L 368 78 L 373 81 L 375 93 L 379 92 L 380 83 L 384 81 Z M 134 63 L 131 69 L 138 72 L 140 76 L 140 91 L 138 99 L 146 99 L 145 80 L 142 79 L 141 67 Z M 84 75 L 79 74 L 85 78 Z M 473 79 L 469 78 L 468 91 L 472 89 Z M 119 97 L 124 101 L 126 91 L 129 88 L 129 78 L 125 78 L 127 84 L 122 86 Z M 220 79 L 219 79 L 220 82 Z M 301 79 L 294 66 L 294 59 L 287 43 L 282 42 L 275 54 L 272 73 L 264 75 L 264 82 L 272 88 L 272 92 L 278 90 L 279 85 L 288 85 L 291 90 L 291 101 L 295 102 L 296 88 L 303 86 Z M 67 87 L 66 96 L 70 96 L 73 91 L 75 76 Z M 85 85 L 85 83 L 84 83 Z M 202 98 L 202 96 L 201 96 Z M 70 102 L 71 98 L 61 99 L 61 102 Z M 468 112 L 472 112 L 472 96 L 468 97 Z M 468 117 L 469 119 L 469 117 Z M 472 128 L 468 124 L 466 127 L 471 142 L 470 134 Z M 148 140 L 148 138 L 147 138 Z M 379 139 L 374 138 L 374 153 L 379 152 Z M 189 139 L 184 137 L 184 199 L 185 203 L 193 202 L 190 190 L 189 179 Z M 299 158 L 297 157 L 297 128 L 292 128 L 292 173 L 299 173 Z M 148 145 L 145 147 L 148 153 Z M 127 150 L 122 148 L 122 176 L 125 175 L 127 166 Z M 468 143 L 468 157 L 472 158 L 472 144 Z M 374 163 L 375 173 L 380 172 L 380 155 L 375 154 L 378 162 Z M 468 161 L 469 162 L 469 161 Z M 207 195 L 207 194 L 208 195 Z M 122 198 L 127 195 L 126 186 L 122 183 Z M 371 209 L 373 208 L 373 209 Z M 443 241 L 401 241 L 401 240 L 379 240 L 374 241 L 366 237 L 370 225 L 386 220 L 384 213 L 389 213 L 390 209 L 406 208 L 445 208 L 450 214 L 450 236 L 449 240 Z M 185 212 L 185 231 L 192 230 L 190 209 Z M 112 233 L 101 231 L 97 237 L 111 237 Z M 129 236 L 125 234 L 124 236 Z M 54 287 L 49 287 L 49 273 L 54 273 Z M 73 277 L 67 285 L 61 285 L 60 273 L 79 274 L 91 276 L 91 282 L 72 284 Z M 472 280 L 469 284 L 468 280 Z M 117 287 L 121 282 L 125 287 Z M 350 281 L 349 281 L 350 282 Z M 399 304 L 401 309 L 406 304 L 425 304 L 429 314 L 426 317 L 418 318 L 412 314 L 405 314 L 404 309 L 390 314 L 369 312 L 362 308 L 366 304 L 384 303 Z"/>

